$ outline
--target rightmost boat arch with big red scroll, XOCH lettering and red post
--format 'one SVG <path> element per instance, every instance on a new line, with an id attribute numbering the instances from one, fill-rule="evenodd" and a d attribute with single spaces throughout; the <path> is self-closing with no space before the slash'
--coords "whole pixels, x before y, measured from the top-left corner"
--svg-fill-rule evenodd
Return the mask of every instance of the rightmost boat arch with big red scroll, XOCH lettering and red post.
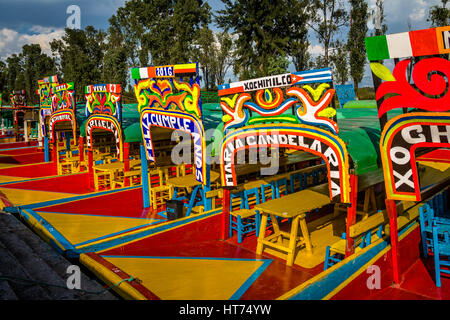
<path id="1" fill-rule="evenodd" d="M 382 130 L 379 147 L 397 284 L 396 202 L 427 201 L 449 185 L 449 38 L 450 26 L 445 26 L 365 39 Z M 392 72 L 382 64 L 389 59 L 394 60 Z M 388 120 L 388 112 L 396 109 L 402 113 Z M 430 181 L 426 173 L 436 167 L 440 174 Z"/>

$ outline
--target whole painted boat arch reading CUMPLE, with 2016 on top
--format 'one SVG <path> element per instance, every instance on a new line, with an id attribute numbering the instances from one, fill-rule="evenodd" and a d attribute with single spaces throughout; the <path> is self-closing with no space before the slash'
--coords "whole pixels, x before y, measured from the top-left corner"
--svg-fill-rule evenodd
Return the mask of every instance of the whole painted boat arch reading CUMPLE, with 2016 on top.
<path id="1" fill-rule="evenodd" d="M 151 128 L 180 130 L 192 136 L 195 177 L 206 184 L 206 154 L 200 80 L 195 63 L 134 68 L 134 91 L 141 113 L 142 134 L 147 159 L 155 160 Z M 178 78 L 178 79 L 177 79 Z M 188 78 L 185 82 L 183 78 Z"/>

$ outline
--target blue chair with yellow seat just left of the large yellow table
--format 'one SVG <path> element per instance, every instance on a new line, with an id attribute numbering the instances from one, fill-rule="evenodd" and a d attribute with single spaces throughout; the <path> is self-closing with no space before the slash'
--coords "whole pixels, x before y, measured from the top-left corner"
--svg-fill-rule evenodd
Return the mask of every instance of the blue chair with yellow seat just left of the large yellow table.
<path id="1" fill-rule="evenodd" d="M 243 194 L 243 197 L 242 197 Z M 258 211 L 252 207 L 261 203 L 259 196 L 259 188 L 244 190 L 242 193 L 236 194 L 235 197 L 241 197 L 240 209 L 230 212 L 230 238 L 233 230 L 237 232 L 238 243 L 242 242 L 245 234 L 255 231 L 256 236 L 259 235 L 259 227 L 261 225 L 261 217 Z"/>

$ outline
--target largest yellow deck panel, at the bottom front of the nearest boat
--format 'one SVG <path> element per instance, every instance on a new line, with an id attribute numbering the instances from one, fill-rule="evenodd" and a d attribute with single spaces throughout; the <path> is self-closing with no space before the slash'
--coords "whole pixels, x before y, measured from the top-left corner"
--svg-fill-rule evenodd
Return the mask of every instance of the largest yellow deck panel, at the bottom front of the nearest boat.
<path id="1" fill-rule="evenodd" d="M 164 300 L 225 300 L 263 261 L 103 257 Z"/>

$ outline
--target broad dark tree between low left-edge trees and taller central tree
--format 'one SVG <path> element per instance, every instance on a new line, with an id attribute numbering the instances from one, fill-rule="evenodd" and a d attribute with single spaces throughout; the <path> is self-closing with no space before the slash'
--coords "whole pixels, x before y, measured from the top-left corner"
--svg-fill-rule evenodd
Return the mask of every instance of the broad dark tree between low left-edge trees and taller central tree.
<path id="1" fill-rule="evenodd" d="M 50 43 L 63 75 L 61 82 L 74 82 L 81 101 L 85 86 L 103 82 L 105 39 L 104 31 L 87 26 L 85 30 L 66 28 L 61 40 Z"/>

